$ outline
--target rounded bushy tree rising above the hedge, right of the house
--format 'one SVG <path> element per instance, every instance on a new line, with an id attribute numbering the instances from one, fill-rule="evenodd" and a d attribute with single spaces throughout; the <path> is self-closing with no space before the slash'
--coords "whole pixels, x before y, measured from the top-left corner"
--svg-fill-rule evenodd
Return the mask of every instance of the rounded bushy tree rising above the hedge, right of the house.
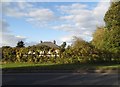
<path id="1" fill-rule="evenodd" d="M 88 62 L 91 61 L 93 51 L 94 48 L 90 43 L 75 37 L 70 54 L 74 55 L 76 62 Z"/>

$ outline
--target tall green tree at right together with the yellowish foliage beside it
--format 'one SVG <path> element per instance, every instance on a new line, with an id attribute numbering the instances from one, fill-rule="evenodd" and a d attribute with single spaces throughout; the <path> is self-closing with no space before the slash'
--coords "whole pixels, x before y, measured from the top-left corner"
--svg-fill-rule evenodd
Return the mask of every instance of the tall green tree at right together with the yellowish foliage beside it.
<path id="1" fill-rule="evenodd" d="M 93 34 L 92 44 L 102 50 L 120 52 L 120 1 L 111 2 L 104 16 L 105 27 L 98 28 Z"/>

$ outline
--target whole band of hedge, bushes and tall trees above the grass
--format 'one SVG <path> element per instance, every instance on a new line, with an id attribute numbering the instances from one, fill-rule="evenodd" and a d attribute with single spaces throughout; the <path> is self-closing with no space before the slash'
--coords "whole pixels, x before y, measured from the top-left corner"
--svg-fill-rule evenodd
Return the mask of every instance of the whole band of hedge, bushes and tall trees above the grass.
<path id="1" fill-rule="evenodd" d="M 23 42 L 18 42 L 17 47 L 2 47 L 2 61 L 27 62 L 27 63 L 120 63 L 120 1 L 112 2 L 109 10 L 105 14 L 105 26 L 98 27 L 93 34 L 93 40 L 86 42 L 80 38 L 75 38 L 71 46 L 66 46 L 64 42 L 59 50 L 59 57 L 39 56 L 40 50 L 48 50 L 54 53 L 54 49 L 48 46 L 24 47 Z M 29 51 L 32 54 L 28 54 Z"/>

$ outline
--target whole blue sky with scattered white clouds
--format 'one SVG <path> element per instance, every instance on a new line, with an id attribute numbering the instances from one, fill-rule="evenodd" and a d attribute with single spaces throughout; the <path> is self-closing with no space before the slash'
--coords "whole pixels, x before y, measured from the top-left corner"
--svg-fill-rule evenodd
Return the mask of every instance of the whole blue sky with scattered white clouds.
<path id="1" fill-rule="evenodd" d="M 77 36 L 92 40 L 97 26 L 104 26 L 109 1 L 89 2 L 13 2 L 0 3 L 0 46 L 25 46 L 56 40 L 71 44 Z"/>

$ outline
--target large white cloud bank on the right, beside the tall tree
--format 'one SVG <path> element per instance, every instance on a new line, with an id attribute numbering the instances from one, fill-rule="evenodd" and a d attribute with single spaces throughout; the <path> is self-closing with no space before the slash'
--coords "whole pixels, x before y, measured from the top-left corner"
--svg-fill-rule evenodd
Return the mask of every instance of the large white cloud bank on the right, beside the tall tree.
<path id="1" fill-rule="evenodd" d="M 109 2 L 100 1 L 94 9 L 86 9 L 87 6 L 81 4 L 59 7 L 66 14 L 60 17 L 64 23 L 66 21 L 66 24 L 55 26 L 55 29 L 72 31 L 70 35 L 62 37 L 61 41 L 69 42 L 73 36 L 81 37 L 86 41 L 92 40 L 92 33 L 96 30 L 96 26 L 104 26 L 103 18 L 109 5 Z"/>

